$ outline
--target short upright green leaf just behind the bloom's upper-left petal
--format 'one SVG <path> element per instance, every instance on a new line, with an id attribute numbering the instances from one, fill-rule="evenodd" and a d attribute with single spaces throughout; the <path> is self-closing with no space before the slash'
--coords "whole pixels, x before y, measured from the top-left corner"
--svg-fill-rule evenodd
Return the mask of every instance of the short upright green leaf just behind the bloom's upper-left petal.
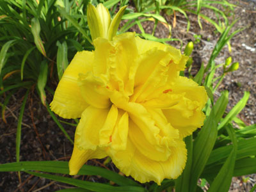
<path id="1" fill-rule="evenodd" d="M 58 70 L 58 77 L 60 80 L 63 75 L 63 72 L 68 67 L 68 47 L 65 41 L 62 44 L 58 41 L 57 46 L 58 46 L 57 70 Z"/>

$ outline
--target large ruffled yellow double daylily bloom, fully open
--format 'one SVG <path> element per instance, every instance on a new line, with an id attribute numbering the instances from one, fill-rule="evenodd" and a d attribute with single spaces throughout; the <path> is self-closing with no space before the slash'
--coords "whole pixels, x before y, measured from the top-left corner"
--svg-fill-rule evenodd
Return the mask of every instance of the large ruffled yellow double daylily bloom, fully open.
<path id="1" fill-rule="evenodd" d="M 51 109 L 81 118 L 69 162 L 76 175 L 88 159 L 110 156 L 135 180 L 175 179 L 187 159 L 183 138 L 204 123 L 207 94 L 180 70 L 188 56 L 134 33 L 96 38 L 77 52 L 58 84 Z"/>

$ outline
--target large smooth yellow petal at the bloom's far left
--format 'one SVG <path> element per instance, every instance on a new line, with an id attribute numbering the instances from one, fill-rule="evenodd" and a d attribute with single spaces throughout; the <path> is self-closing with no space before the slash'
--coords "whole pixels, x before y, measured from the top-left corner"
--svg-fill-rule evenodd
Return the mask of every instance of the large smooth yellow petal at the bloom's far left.
<path id="1" fill-rule="evenodd" d="M 77 52 L 65 70 L 50 104 L 52 111 L 63 118 L 79 118 L 88 107 L 77 84 L 79 73 L 92 70 L 93 52 Z"/>

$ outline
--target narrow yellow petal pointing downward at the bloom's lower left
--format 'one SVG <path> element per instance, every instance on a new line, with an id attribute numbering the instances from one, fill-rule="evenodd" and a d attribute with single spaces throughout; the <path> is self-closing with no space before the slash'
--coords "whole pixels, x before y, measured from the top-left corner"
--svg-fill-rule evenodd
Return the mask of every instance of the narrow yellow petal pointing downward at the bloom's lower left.
<path id="1" fill-rule="evenodd" d="M 84 163 L 86 163 L 86 161 L 88 161 L 89 159 L 102 159 L 106 156 L 106 153 L 99 148 L 97 148 L 96 150 L 80 150 L 79 148 L 77 148 L 75 142 L 72 156 L 68 163 L 69 175 L 76 175 L 81 167 L 84 165 Z"/>

